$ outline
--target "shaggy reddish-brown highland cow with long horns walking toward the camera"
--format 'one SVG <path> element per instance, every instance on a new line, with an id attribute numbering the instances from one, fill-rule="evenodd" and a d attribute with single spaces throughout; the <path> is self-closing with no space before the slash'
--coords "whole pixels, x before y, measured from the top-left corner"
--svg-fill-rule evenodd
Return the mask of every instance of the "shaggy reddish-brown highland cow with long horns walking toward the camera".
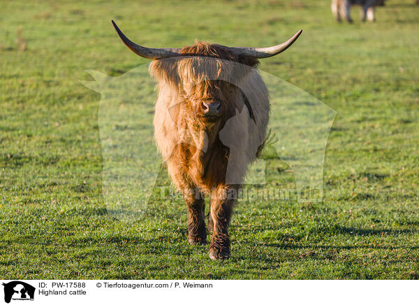
<path id="1" fill-rule="evenodd" d="M 286 50 L 302 31 L 270 48 L 197 42 L 181 49 L 156 49 L 136 45 L 115 22 L 112 24 L 130 50 L 154 59 L 149 67 L 159 88 L 154 137 L 172 182 L 184 194 L 189 211 L 188 240 L 207 241 L 204 194 L 210 195 L 210 257 L 226 259 L 235 194 L 247 166 L 262 147 L 269 119 L 267 88 L 254 67 L 258 58 Z M 233 117 L 234 124 L 226 125 Z M 232 146 L 234 157 L 230 155 Z"/>

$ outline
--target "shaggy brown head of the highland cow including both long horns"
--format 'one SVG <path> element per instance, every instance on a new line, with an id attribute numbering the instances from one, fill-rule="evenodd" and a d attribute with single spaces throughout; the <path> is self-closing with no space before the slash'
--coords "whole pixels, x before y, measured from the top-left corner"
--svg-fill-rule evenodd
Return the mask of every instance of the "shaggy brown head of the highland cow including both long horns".
<path id="1" fill-rule="evenodd" d="M 228 100 L 234 92 L 230 83 L 237 86 L 240 83 L 237 78 L 244 77 L 259 58 L 284 52 L 302 32 L 297 31 L 288 41 L 268 48 L 232 48 L 200 41 L 184 48 L 145 48 L 130 41 L 113 20 L 112 24 L 131 51 L 156 59 L 149 71 L 159 81 L 159 90 L 166 90 L 163 93 L 168 99 L 177 96 L 176 102 L 183 98 L 178 104 L 189 108 L 184 109 L 186 113 L 204 127 L 214 125 L 226 115 Z"/>

